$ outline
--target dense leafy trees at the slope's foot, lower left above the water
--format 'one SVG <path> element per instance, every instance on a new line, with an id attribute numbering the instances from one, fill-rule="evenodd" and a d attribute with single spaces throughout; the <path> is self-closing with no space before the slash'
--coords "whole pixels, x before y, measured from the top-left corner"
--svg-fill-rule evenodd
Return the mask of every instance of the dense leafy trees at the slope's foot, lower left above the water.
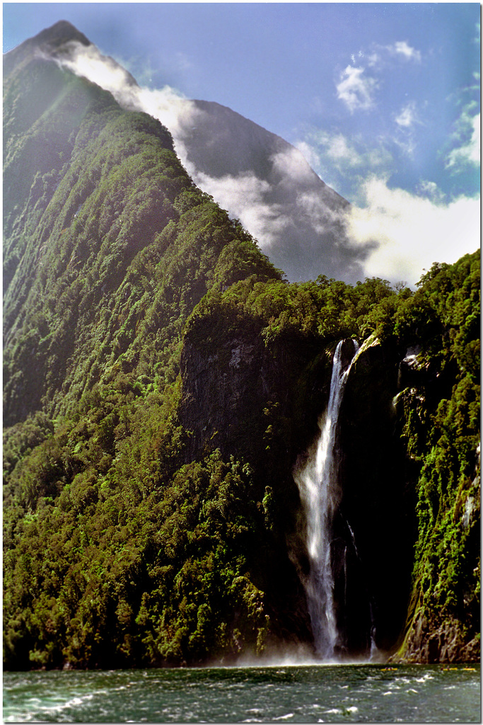
<path id="1" fill-rule="evenodd" d="M 5 535 L 9 665 L 180 664 L 263 647 L 263 593 L 245 576 L 244 544 L 261 527 L 249 469 L 215 452 L 172 473 L 179 431 L 138 415 L 151 445 L 125 440 L 106 471 L 86 437 L 99 412 L 23 468 L 27 513 Z M 48 472 L 33 491 L 39 466 Z"/>

